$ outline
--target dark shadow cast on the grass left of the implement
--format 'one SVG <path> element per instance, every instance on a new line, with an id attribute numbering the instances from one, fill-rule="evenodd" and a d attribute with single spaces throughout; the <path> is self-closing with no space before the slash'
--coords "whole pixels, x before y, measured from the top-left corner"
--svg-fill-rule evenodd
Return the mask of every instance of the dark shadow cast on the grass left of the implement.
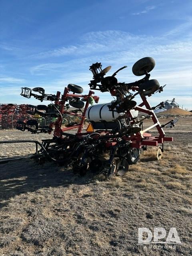
<path id="1" fill-rule="evenodd" d="M 88 184 L 92 174 L 84 177 L 72 169 L 62 168 L 52 162 L 39 165 L 34 160 L 19 160 L 0 165 L 0 207 L 16 195 L 34 192 L 40 188 L 66 187 L 70 184 Z"/>

